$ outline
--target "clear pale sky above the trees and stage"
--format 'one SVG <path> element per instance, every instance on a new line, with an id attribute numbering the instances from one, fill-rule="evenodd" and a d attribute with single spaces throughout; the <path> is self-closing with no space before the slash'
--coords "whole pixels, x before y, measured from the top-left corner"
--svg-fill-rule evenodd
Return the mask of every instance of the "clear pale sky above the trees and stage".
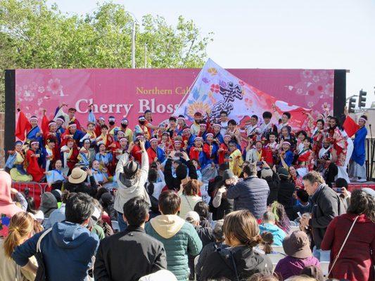
<path id="1" fill-rule="evenodd" d="M 95 0 L 55 0 L 61 11 L 92 13 Z M 179 15 L 214 32 L 208 57 L 226 68 L 346 69 L 347 95 L 375 101 L 374 0 L 113 0 L 140 21 Z"/>

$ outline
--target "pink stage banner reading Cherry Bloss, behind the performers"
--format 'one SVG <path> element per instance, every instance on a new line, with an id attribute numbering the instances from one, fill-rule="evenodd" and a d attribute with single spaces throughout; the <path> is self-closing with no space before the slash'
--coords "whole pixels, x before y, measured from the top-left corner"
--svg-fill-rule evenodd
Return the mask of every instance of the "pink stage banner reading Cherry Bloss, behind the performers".
<path id="1" fill-rule="evenodd" d="M 153 122 L 167 119 L 179 105 L 200 69 L 87 69 L 16 70 L 15 100 L 21 101 L 25 115 L 51 117 L 58 105 L 77 109 L 76 117 L 85 126 L 88 105 L 94 103 L 96 118 L 113 115 L 130 127 L 145 110 L 153 112 Z M 278 100 L 322 112 L 333 109 L 333 70 L 229 69 L 229 72 Z M 65 110 L 67 111 L 67 110 Z"/>

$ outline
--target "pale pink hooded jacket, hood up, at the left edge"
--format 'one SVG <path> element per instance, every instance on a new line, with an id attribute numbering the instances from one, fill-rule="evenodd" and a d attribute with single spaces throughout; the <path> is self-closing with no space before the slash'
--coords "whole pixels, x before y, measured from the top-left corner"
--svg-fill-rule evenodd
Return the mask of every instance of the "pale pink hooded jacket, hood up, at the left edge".
<path id="1" fill-rule="evenodd" d="M 17 207 L 11 197 L 12 178 L 6 171 L 0 171 L 0 237 L 8 235 L 11 217 L 23 211 Z"/>

